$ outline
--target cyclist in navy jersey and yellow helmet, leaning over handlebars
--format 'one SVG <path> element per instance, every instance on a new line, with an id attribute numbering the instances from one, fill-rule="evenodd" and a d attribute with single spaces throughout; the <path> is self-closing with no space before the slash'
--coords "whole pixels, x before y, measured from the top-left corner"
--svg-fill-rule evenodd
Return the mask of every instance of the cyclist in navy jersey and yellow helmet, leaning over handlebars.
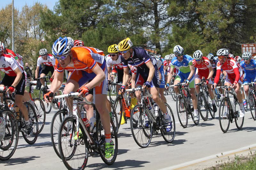
<path id="1" fill-rule="evenodd" d="M 156 65 L 156 59 L 152 58 L 146 50 L 140 47 L 132 47 L 132 41 L 129 38 L 126 38 L 119 42 L 118 49 L 121 56 L 121 63 L 124 66 L 124 77 L 123 85 L 121 86 L 120 91 L 124 93 L 125 84 L 129 78 L 129 69 L 128 64 L 137 67 L 137 74 L 135 78 L 135 88 L 142 86 L 143 88 L 151 88 L 150 93 L 152 99 L 157 103 L 159 108 L 164 113 L 164 119 L 166 123 L 166 131 L 172 130 L 172 120 L 169 114 L 167 113 L 166 106 L 164 101 L 159 97 L 159 73 Z M 145 83 L 145 85 L 144 85 Z M 136 96 L 138 101 L 140 101 L 140 93 L 136 91 Z M 147 126 L 147 124 L 145 124 Z"/>

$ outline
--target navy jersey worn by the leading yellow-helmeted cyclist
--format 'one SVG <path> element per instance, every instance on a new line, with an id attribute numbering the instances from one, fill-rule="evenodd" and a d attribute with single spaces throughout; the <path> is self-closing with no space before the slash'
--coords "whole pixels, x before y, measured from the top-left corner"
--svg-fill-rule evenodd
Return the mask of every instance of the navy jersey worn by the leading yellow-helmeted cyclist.
<path id="1" fill-rule="evenodd" d="M 156 65 L 156 59 L 151 57 L 151 55 L 146 50 L 140 47 L 133 47 L 132 49 L 132 56 L 127 60 L 121 56 L 121 63 L 124 67 L 128 67 L 128 64 L 130 64 L 141 69 L 149 69 L 146 65 L 146 63 L 149 61 L 151 61 L 153 65 Z"/>

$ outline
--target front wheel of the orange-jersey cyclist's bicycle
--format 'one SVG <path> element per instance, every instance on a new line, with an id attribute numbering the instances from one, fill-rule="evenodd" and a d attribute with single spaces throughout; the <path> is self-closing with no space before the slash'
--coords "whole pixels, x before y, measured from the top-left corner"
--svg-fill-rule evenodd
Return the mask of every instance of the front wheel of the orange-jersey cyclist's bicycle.
<path id="1" fill-rule="evenodd" d="M 68 127 L 66 129 L 66 127 Z M 79 137 L 74 116 L 66 117 L 60 124 L 58 141 L 61 159 L 68 169 L 84 169 L 88 161 L 88 141 L 84 129 L 79 124 Z M 79 142 L 79 145 L 78 145 Z"/>

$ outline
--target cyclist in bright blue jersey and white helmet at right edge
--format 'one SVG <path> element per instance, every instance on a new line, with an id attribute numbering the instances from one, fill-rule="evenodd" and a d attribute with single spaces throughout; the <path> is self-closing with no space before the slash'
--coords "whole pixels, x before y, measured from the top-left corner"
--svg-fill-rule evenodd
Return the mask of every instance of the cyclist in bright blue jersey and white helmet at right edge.
<path id="1" fill-rule="evenodd" d="M 244 82 L 250 83 L 256 81 L 256 61 L 251 59 L 252 53 L 245 52 L 242 54 L 243 61 L 240 62 L 240 66 L 244 69 Z M 244 86 L 246 96 L 248 96 L 248 85 Z"/>

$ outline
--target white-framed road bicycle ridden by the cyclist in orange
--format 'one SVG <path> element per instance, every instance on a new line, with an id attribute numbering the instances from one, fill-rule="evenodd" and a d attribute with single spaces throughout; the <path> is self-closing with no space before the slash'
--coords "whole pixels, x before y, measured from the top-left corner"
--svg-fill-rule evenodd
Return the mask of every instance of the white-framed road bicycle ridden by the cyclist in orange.
<path id="1" fill-rule="evenodd" d="M 65 95 L 55 96 L 55 99 L 63 97 L 76 97 L 78 92 L 69 93 Z M 90 131 L 85 127 L 84 122 L 80 116 L 80 105 L 90 104 L 93 106 L 93 109 L 96 111 L 96 132 L 90 134 Z M 110 158 L 106 158 L 105 153 L 105 136 L 103 126 L 100 122 L 100 114 L 95 107 L 95 104 L 88 102 L 84 98 L 84 102 L 77 102 L 73 100 L 73 115 L 66 117 L 60 124 L 58 141 L 59 142 L 59 151 L 61 159 L 64 165 L 68 169 L 84 169 L 87 160 L 88 152 L 91 155 L 94 154 L 94 151 L 99 152 L 101 159 L 108 165 L 111 165 L 115 162 L 117 156 L 117 133 L 113 120 L 110 119 L 113 131 L 111 131 L 111 138 L 114 142 L 114 154 Z M 75 135 L 77 138 L 75 139 Z M 76 165 L 79 164 L 79 165 Z"/>

